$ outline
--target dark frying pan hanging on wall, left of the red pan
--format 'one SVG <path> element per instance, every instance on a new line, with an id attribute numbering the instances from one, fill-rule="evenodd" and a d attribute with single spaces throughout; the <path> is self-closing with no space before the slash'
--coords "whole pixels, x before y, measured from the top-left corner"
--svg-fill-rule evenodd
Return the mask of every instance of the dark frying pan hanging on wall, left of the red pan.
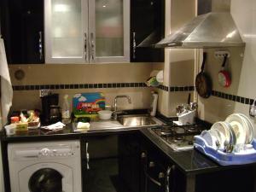
<path id="1" fill-rule="evenodd" d="M 195 88 L 198 94 L 203 98 L 208 98 L 212 93 L 212 81 L 207 73 L 204 72 L 207 53 L 203 53 L 203 61 L 201 64 L 201 72 L 196 75 Z"/>

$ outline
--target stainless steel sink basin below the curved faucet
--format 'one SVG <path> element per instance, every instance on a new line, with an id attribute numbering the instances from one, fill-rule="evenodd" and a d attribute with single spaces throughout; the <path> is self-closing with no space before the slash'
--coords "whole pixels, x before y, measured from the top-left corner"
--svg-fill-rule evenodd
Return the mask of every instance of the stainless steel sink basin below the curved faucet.
<path id="1" fill-rule="evenodd" d="M 157 125 L 157 123 L 148 115 L 122 115 L 118 121 L 124 126 L 146 126 Z"/>

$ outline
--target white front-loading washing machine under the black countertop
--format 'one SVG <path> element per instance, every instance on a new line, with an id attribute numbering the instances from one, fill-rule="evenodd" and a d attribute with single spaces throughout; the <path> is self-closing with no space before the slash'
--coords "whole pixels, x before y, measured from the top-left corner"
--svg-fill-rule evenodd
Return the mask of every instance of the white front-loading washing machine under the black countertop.
<path id="1" fill-rule="evenodd" d="M 12 192 L 82 192 L 79 140 L 10 143 Z"/>

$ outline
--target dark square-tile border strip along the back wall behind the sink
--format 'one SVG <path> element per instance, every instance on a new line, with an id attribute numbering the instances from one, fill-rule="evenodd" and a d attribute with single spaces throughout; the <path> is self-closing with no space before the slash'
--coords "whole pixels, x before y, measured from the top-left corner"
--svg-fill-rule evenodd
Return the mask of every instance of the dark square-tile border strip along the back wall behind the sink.
<path id="1" fill-rule="evenodd" d="M 145 83 L 108 83 L 108 84 L 40 84 L 14 85 L 13 90 L 73 90 L 73 89 L 108 89 L 125 87 L 147 87 Z"/>

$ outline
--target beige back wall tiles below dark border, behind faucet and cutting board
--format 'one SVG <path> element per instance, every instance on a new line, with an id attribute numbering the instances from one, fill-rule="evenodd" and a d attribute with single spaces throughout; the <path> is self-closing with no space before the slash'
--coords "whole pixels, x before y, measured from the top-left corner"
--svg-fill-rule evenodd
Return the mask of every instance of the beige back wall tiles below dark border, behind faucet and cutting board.
<path id="1" fill-rule="evenodd" d="M 54 93 L 59 94 L 59 106 L 63 102 L 63 96 L 67 94 L 70 103 L 72 97 L 77 93 L 84 92 L 102 92 L 106 97 L 106 104 L 113 106 L 115 96 L 127 95 L 131 96 L 131 104 L 126 99 L 118 100 L 119 109 L 132 108 L 150 108 L 151 94 L 150 89 L 146 88 L 113 88 L 113 89 L 87 89 L 87 90 L 54 90 Z M 41 99 L 38 90 L 22 90 L 14 92 L 14 100 L 12 110 L 20 109 L 41 109 Z"/>

